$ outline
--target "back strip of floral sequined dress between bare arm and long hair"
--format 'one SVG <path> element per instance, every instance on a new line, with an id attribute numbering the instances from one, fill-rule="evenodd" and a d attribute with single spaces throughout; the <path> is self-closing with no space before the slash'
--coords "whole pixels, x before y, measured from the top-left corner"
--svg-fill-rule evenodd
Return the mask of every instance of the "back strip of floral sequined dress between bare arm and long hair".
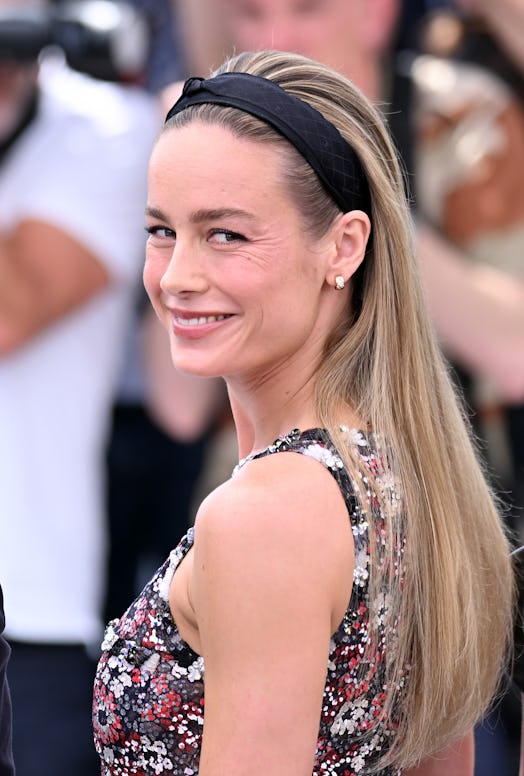
<path id="1" fill-rule="evenodd" d="M 330 645 L 326 685 L 322 703 L 313 776 L 360 776 L 377 773 L 379 760 L 391 749 L 395 729 L 384 711 L 386 701 L 385 645 L 388 627 L 388 597 L 385 591 L 370 606 L 370 522 L 377 538 L 384 535 L 384 521 L 371 479 L 381 495 L 396 504 L 401 520 L 402 500 L 378 454 L 374 439 L 344 426 L 353 450 L 369 472 L 363 486 L 369 502 L 364 509 L 344 462 L 329 436 L 322 430 L 305 432 L 295 441 L 295 449 L 322 463 L 335 477 L 342 491 L 355 543 L 353 590 L 348 609 Z M 293 432 L 292 432 L 293 433 Z M 310 438 L 310 435 L 312 438 Z M 381 543 L 378 542 L 380 548 Z M 398 549 L 398 563 L 403 554 Z M 379 564 L 382 558 L 377 558 Z M 370 616 L 375 613 L 376 644 L 370 645 Z M 381 776 L 399 776 L 394 768 L 382 768 Z"/>

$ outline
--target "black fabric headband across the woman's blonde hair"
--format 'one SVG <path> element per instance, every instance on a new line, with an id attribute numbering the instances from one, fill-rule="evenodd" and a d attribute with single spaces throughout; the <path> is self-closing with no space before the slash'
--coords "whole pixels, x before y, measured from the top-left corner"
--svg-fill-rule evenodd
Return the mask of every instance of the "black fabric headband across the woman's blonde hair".
<path id="1" fill-rule="evenodd" d="M 338 129 L 309 103 L 268 78 L 223 73 L 189 78 L 166 122 L 190 105 L 212 103 L 239 108 L 280 132 L 316 172 L 342 212 L 369 212 L 369 191 L 360 160 Z"/>

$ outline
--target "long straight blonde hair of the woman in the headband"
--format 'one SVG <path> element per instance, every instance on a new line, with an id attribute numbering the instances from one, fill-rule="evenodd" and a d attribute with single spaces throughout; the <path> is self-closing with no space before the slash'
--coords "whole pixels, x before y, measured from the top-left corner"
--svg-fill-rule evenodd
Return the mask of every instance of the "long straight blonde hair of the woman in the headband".
<path id="1" fill-rule="evenodd" d="M 387 630 L 395 633 L 387 710 L 398 729 L 387 762 L 406 767 L 465 735 L 496 693 L 513 614 L 508 542 L 428 321 L 402 173 L 378 111 L 341 75 L 299 55 L 241 54 L 217 72 L 231 71 L 269 78 L 313 105 L 357 153 L 369 184 L 372 237 L 359 298 L 354 288 L 349 323 L 327 347 L 317 409 L 355 484 L 359 464 L 338 426 L 343 405 L 384 440 L 386 465 L 400 483 L 401 525 L 398 508 L 377 492 L 391 562 L 380 573 L 372 563 L 370 602 L 386 583 Z M 197 117 L 285 148 L 286 178 L 305 223 L 318 234 L 329 227 L 336 205 L 274 130 L 236 109 L 210 105 L 189 108 L 169 123 Z M 372 544 L 373 536 L 371 530 Z M 404 541 L 399 574 L 395 563 Z"/>

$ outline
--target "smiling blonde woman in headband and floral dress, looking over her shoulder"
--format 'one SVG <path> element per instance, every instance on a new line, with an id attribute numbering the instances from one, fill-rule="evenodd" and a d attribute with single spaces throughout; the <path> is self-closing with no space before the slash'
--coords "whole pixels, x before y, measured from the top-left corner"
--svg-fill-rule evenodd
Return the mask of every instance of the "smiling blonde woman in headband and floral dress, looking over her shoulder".
<path id="1" fill-rule="evenodd" d="M 190 79 L 147 231 L 173 361 L 225 378 L 241 460 L 108 626 L 103 774 L 429 774 L 448 746 L 446 773 L 471 773 L 509 552 L 378 113 L 290 54 Z"/>

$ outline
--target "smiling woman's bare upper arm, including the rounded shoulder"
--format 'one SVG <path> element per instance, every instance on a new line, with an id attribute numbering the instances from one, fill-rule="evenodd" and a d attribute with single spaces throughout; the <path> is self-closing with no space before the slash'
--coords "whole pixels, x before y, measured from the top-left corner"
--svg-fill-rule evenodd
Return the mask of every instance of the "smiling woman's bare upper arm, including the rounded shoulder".
<path id="1" fill-rule="evenodd" d="M 336 517 L 326 521 L 328 510 L 344 509 L 330 475 L 298 456 L 278 457 L 286 459 L 278 469 L 257 461 L 256 478 L 223 486 L 196 523 L 191 597 L 205 661 L 200 776 L 309 776 L 313 769 L 337 575 L 352 576 L 351 532 L 347 513 L 345 527 Z"/>

